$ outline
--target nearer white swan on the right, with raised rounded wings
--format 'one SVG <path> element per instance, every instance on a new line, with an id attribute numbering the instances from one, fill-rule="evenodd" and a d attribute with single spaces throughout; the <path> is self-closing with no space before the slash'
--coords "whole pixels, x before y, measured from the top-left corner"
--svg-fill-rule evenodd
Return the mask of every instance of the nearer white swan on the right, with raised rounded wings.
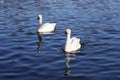
<path id="1" fill-rule="evenodd" d="M 71 30 L 66 29 L 67 40 L 65 45 L 65 52 L 75 52 L 81 48 L 80 39 L 73 37 L 71 38 Z"/>

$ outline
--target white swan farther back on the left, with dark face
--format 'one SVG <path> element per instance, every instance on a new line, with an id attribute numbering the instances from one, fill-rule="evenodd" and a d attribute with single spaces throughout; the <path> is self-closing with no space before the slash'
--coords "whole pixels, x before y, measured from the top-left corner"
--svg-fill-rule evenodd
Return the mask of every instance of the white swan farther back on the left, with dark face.
<path id="1" fill-rule="evenodd" d="M 42 24 L 42 15 L 38 15 L 38 20 L 39 20 L 39 28 L 38 28 L 39 33 L 47 33 L 47 32 L 49 33 L 54 31 L 56 23 Z"/>

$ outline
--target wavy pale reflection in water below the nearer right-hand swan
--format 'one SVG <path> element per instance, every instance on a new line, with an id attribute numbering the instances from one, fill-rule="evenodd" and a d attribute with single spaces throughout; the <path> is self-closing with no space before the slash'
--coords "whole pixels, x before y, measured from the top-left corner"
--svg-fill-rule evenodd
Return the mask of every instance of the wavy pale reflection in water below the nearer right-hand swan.
<path id="1" fill-rule="evenodd" d="M 70 61 L 74 60 L 75 56 L 76 56 L 76 54 L 65 53 L 65 57 L 66 57 L 66 62 L 65 62 L 66 70 L 65 70 L 65 74 L 64 74 L 65 76 L 70 75 L 70 72 L 71 72 L 71 70 L 70 70 Z"/>

